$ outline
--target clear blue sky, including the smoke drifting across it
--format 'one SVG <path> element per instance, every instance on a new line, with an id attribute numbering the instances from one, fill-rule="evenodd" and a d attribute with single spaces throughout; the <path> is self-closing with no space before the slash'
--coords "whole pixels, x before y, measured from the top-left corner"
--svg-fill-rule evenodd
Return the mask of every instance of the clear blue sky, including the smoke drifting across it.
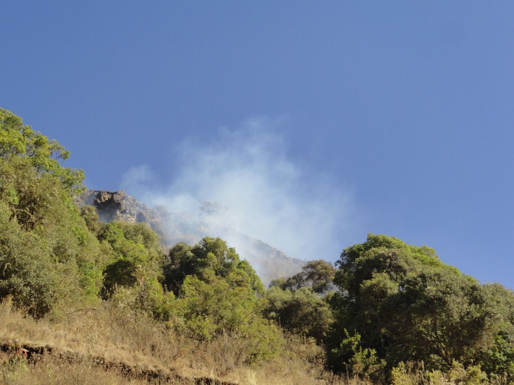
<path id="1" fill-rule="evenodd" d="M 514 3 L 0 12 L 0 106 L 68 148 L 88 187 L 220 201 L 298 258 L 387 234 L 514 288 Z"/>

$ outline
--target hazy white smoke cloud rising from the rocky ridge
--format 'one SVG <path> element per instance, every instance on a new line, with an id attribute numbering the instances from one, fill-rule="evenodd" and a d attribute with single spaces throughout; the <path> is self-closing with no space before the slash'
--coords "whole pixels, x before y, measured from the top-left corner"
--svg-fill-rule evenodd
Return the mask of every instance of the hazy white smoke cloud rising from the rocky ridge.
<path id="1" fill-rule="evenodd" d="M 122 188 L 147 204 L 196 218 L 202 202 L 216 202 L 224 207 L 223 220 L 211 225 L 223 222 L 293 258 L 334 261 L 356 230 L 351 194 L 335 179 L 293 163 L 280 124 L 256 118 L 233 130 L 220 128 L 211 143 L 185 141 L 176 148 L 171 185 L 157 187 L 151 168 L 141 165 L 125 173 Z"/>

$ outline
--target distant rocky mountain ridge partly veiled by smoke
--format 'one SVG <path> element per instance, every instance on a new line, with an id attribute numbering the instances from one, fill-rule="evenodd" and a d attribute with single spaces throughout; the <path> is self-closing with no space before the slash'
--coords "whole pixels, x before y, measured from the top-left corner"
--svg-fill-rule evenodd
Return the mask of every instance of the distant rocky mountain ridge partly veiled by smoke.
<path id="1" fill-rule="evenodd" d="M 192 215 L 168 213 L 163 208 L 152 208 L 127 195 L 123 190 L 86 190 L 78 198 L 78 202 L 79 205 L 95 206 L 102 222 L 124 220 L 149 223 L 161 236 L 166 247 L 171 247 L 177 242 L 194 244 L 206 236 L 221 237 L 236 248 L 241 258 L 252 264 L 265 285 L 273 278 L 298 273 L 305 264 L 303 260 L 290 258 L 267 243 L 230 227 L 213 228 L 201 218 Z"/>

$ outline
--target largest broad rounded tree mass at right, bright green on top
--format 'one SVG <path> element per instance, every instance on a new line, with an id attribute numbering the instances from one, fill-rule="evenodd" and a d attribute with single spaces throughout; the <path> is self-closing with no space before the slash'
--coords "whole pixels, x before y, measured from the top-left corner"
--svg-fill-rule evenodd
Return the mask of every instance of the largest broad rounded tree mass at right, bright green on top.
<path id="1" fill-rule="evenodd" d="M 336 264 L 340 293 L 329 299 L 337 322 L 328 347 L 335 367 L 345 359 L 337 342 L 345 329 L 390 365 L 418 360 L 429 369 L 447 370 L 453 360 L 471 364 L 490 343 L 496 316 L 482 286 L 429 247 L 369 235 Z"/>

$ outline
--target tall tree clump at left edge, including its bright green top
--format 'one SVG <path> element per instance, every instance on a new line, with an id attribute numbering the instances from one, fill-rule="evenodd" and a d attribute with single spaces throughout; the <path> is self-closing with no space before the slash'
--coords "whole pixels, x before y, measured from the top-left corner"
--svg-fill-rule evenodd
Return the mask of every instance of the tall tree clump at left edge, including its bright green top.
<path id="1" fill-rule="evenodd" d="M 99 244 L 70 197 L 69 152 L 0 108 L 0 296 L 40 317 L 98 293 Z"/>

